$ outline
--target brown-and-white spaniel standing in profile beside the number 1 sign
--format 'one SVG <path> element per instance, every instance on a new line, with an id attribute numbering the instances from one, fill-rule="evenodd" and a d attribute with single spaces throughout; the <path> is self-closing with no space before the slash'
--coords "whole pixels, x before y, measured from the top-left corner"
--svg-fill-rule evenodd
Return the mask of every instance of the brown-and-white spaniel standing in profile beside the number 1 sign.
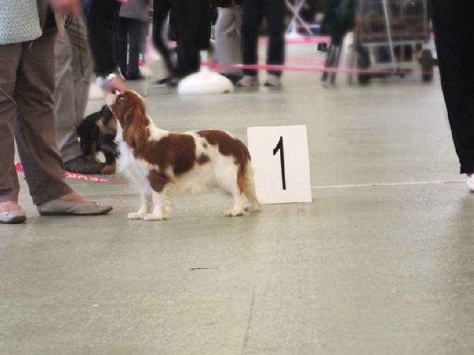
<path id="1" fill-rule="evenodd" d="M 166 219 L 176 193 L 207 190 L 213 182 L 233 196 L 226 216 L 260 209 L 250 153 L 236 137 L 214 129 L 181 134 L 159 129 L 134 91 L 110 93 L 107 103 L 120 123 L 120 170 L 141 192 L 140 209 L 129 219 Z"/>

